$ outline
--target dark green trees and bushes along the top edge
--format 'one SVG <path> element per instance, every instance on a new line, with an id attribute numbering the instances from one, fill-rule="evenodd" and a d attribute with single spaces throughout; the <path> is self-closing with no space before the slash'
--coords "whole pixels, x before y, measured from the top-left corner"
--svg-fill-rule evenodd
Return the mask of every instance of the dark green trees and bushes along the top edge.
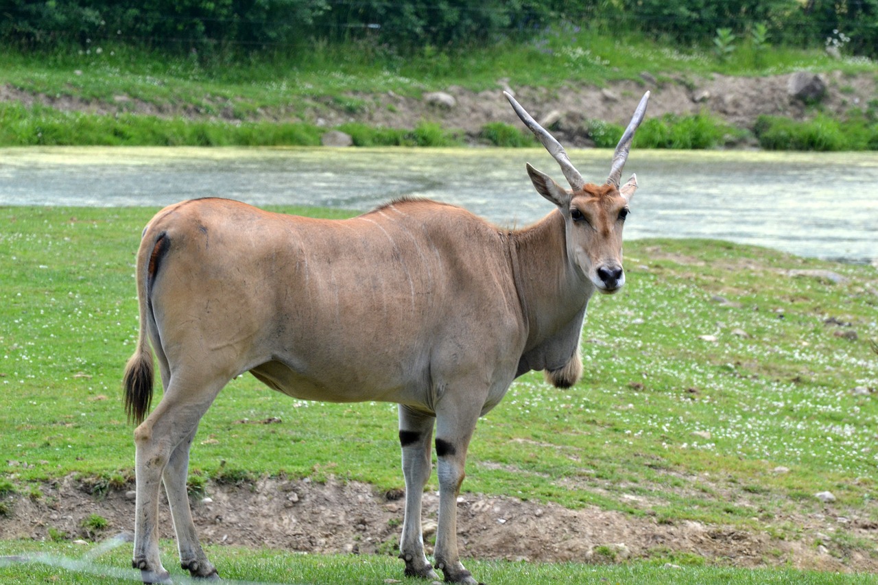
<path id="1" fill-rule="evenodd" d="M 217 45 L 296 52 L 318 40 L 369 38 L 397 52 L 484 46 L 566 21 L 684 45 L 709 44 L 718 30 L 759 29 L 776 43 L 834 40 L 878 56 L 878 0 L 11 0 L 4 17 L 0 41 L 27 48 L 121 41 L 177 52 Z"/>

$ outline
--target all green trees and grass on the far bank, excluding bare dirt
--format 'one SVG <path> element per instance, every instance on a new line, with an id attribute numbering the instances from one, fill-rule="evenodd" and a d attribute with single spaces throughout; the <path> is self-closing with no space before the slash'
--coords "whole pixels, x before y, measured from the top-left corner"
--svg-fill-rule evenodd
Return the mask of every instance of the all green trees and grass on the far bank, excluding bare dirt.
<path id="1" fill-rule="evenodd" d="M 0 78 L 42 98 L 0 102 L 0 145 L 313 146 L 330 129 L 311 123 L 305 104 L 316 102 L 349 112 L 354 121 L 337 129 L 356 146 L 531 146 L 521 126 L 500 122 L 464 134 L 430 119 L 404 128 L 356 120 L 378 94 L 479 91 L 500 78 L 537 87 L 640 80 L 644 70 L 659 84 L 800 69 L 874 76 L 876 7 L 878 0 L 11 0 L 0 23 Z M 56 103 L 64 98 L 76 104 Z M 878 98 L 852 99 L 840 113 L 814 103 L 807 118 L 733 127 L 707 112 L 658 117 L 646 121 L 636 146 L 878 148 Z M 615 145 L 621 131 L 601 120 L 584 126 L 600 147 Z"/>

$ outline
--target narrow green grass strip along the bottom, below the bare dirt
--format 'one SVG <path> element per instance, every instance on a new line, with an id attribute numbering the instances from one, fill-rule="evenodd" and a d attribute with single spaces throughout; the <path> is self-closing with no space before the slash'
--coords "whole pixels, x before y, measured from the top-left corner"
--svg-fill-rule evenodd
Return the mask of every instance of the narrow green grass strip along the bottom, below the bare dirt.
<path id="1" fill-rule="evenodd" d="M 162 543 L 165 549 L 171 543 Z M 253 550 L 235 546 L 207 546 L 206 553 L 223 567 L 224 581 L 260 583 L 333 583 L 337 585 L 381 585 L 400 582 L 415 585 L 419 579 L 401 576 L 399 560 L 378 555 L 312 555 L 276 550 Z M 35 555 L 31 562 L 4 560 L 4 555 Z M 599 585 L 638 583 L 664 585 L 868 585 L 878 583 L 870 574 L 830 574 L 817 571 L 782 569 L 741 569 L 730 567 L 668 566 L 666 561 L 633 562 L 623 565 L 582 563 L 534 563 L 464 560 L 480 579 L 503 585 L 545 583 Z M 0 541 L 0 582 L 64 582 L 104 584 L 131 582 L 139 578 L 130 565 L 128 545 L 104 550 L 101 545 L 69 542 L 32 543 Z M 195 582 L 169 564 L 175 582 Z"/>

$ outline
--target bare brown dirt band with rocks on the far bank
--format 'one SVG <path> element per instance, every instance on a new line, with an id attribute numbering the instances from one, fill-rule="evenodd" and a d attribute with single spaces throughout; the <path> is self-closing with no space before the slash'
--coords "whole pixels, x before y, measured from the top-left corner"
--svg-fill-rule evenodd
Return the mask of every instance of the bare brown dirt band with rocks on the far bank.
<path id="1" fill-rule="evenodd" d="M 866 109 L 878 94 L 874 75 L 846 76 L 841 72 L 822 74 L 827 90 L 821 110 L 831 116 L 844 117 L 851 108 Z M 626 124 L 644 90 L 651 90 L 649 115 L 666 113 L 694 114 L 709 112 L 735 126 L 752 127 L 761 114 L 805 119 L 813 113 L 801 101 L 788 94 L 789 75 L 734 77 L 714 75 L 704 78 L 662 78 L 644 74 L 637 81 L 611 82 L 607 87 L 581 85 L 571 87 L 514 88 L 516 97 L 536 119 L 553 114 L 552 129 L 572 146 L 588 146 L 583 126 L 587 120 L 599 119 Z M 234 116 L 234 99 L 205 97 L 205 104 L 169 102 L 148 103 L 124 94 L 110 100 L 85 100 L 76 96 L 47 96 L 0 85 L 0 101 L 17 101 L 25 105 L 49 105 L 62 111 L 116 115 L 132 112 L 160 118 L 216 119 L 224 121 L 309 122 L 318 126 L 338 126 L 362 122 L 372 126 L 412 128 L 421 121 L 438 122 L 459 129 L 475 139 L 488 122 L 502 121 L 519 125 L 518 119 L 501 95 L 508 89 L 506 80 L 495 88 L 472 91 L 457 86 L 443 88 L 454 97 L 455 105 L 436 105 L 423 97 L 400 96 L 388 91 L 378 94 L 349 93 L 345 96 L 302 97 L 295 108 L 241 108 L 244 119 Z M 244 102 L 241 98 L 241 102 Z"/>

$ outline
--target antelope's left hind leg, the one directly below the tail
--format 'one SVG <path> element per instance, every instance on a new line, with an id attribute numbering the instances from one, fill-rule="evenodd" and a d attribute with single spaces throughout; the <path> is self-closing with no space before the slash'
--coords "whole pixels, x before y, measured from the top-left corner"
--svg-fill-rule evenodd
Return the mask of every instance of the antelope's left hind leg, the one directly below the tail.
<path id="1" fill-rule="evenodd" d="M 172 375 L 168 389 L 162 401 L 153 413 L 134 430 L 136 455 L 134 473 L 137 479 L 137 502 L 134 513 L 134 552 L 132 565 L 140 569 L 144 582 L 162 582 L 169 579 L 168 572 L 162 567 L 158 545 L 158 504 L 162 475 L 171 464 L 168 473 L 169 501 L 172 514 L 184 526 L 187 546 L 191 545 L 189 534 L 195 533 L 188 513 L 179 511 L 178 501 L 180 485 L 185 497 L 185 478 L 180 480 L 181 468 L 188 468 L 189 446 L 191 437 L 195 435 L 198 421 L 210 407 L 219 390 L 226 385 L 227 379 L 215 379 L 203 385 L 187 384 L 183 377 Z M 177 448 L 187 442 L 183 450 Z M 176 454 L 176 457 L 172 457 Z M 186 463 L 182 461 L 185 459 Z M 181 514 L 183 516 L 181 516 Z M 186 519 L 188 518 L 188 523 Z M 187 525 L 189 524 L 189 525 Z M 191 529 L 189 528 L 191 526 Z M 196 541 L 197 542 L 197 541 Z M 203 553 L 202 553 L 203 556 Z M 187 567 L 188 568 L 188 567 Z"/>

